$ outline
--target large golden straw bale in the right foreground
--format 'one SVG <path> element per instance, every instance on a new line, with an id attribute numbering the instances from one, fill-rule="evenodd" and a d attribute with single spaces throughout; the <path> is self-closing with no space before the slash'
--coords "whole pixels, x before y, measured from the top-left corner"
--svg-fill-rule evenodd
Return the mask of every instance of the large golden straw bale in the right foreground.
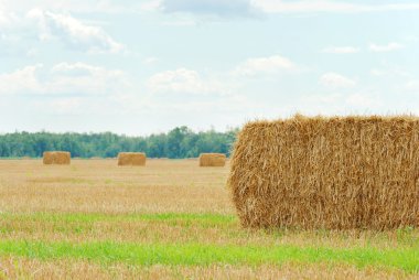
<path id="1" fill-rule="evenodd" d="M 250 122 L 228 184 L 246 227 L 417 227 L 419 118 Z"/>

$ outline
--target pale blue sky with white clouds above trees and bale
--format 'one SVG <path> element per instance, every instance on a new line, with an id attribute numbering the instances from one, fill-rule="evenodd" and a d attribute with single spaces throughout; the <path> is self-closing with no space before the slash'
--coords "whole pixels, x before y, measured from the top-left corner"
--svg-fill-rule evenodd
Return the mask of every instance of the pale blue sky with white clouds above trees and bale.
<path id="1" fill-rule="evenodd" d="M 0 0 L 0 133 L 419 115 L 419 1 Z"/>

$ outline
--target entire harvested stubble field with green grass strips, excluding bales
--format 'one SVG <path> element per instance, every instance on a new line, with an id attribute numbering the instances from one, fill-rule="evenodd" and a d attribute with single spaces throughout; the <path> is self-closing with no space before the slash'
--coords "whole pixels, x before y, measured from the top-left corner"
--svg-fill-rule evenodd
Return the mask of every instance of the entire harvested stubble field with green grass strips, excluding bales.
<path id="1" fill-rule="evenodd" d="M 0 161 L 0 279 L 419 277 L 418 229 L 243 229 L 228 169 Z"/>

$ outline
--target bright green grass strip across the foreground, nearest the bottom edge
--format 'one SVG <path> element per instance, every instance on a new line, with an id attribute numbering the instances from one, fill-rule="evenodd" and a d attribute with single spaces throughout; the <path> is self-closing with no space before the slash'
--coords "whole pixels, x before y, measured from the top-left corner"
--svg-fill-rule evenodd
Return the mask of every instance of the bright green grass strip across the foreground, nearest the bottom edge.
<path id="1" fill-rule="evenodd" d="M 0 256 L 28 257 L 40 260 L 80 259 L 99 263 L 123 262 L 137 266 L 210 266 L 210 265 L 281 265 L 347 263 L 395 268 L 419 272 L 419 251 L 412 249 L 326 248 L 281 245 L 276 247 L 200 245 L 200 244 L 129 244 L 1 240 Z"/>

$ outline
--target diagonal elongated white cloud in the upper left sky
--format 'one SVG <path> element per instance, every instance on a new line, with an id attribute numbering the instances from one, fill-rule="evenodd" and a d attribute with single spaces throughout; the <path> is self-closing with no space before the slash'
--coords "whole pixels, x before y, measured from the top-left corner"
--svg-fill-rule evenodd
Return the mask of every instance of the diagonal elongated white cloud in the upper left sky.
<path id="1" fill-rule="evenodd" d="M 58 39 L 71 49 L 89 53 L 118 53 L 123 45 L 116 42 L 101 28 L 87 25 L 69 14 L 31 10 L 28 18 L 37 22 L 40 39 Z"/>

